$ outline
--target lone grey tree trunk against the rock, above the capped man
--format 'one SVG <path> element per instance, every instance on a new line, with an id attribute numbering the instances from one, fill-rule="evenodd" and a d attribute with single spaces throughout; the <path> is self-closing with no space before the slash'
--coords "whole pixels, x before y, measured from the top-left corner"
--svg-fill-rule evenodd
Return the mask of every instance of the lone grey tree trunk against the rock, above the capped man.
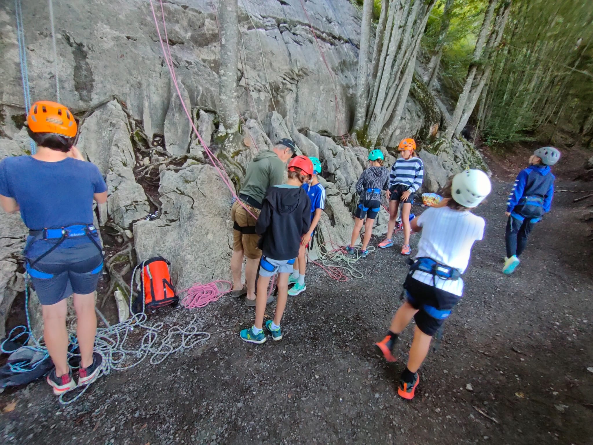
<path id="1" fill-rule="evenodd" d="M 220 122 L 228 132 L 238 131 L 237 66 L 239 59 L 239 23 L 237 0 L 220 0 L 218 18 L 221 27 L 221 64 L 218 93 Z"/>

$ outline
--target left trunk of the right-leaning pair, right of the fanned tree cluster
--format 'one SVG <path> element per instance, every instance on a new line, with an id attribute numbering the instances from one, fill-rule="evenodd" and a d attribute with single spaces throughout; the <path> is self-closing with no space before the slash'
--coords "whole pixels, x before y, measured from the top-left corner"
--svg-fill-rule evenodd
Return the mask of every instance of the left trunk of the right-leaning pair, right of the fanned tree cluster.
<path id="1" fill-rule="evenodd" d="M 463 130 L 463 127 L 461 127 L 461 130 L 458 131 L 461 122 L 461 116 L 463 115 L 464 109 L 466 108 L 468 98 L 470 98 L 472 89 L 471 87 L 473 86 L 474 77 L 476 77 L 476 72 L 478 69 L 478 62 L 480 61 L 480 58 L 482 58 L 484 44 L 486 43 L 486 39 L 489 35 L 490 24 L 492 23 L 492 18 L 494 17 L 494 12 L 498 3 L 499 0 L 490 0 L 486 9 L 486 14 L 484 14 L 482 28 L 480 28 L 480 33 L 478 35 L 476 47 L 474 48 L 474 54 L 470 68 L 467 71 L 466 84 L 463 86 L 463 91 L 461 91 L 461 94 L 457 100 L 457 105 L 455 105 L 455 111 L 453 112 L 453 116 L 448 122 L 447 130 L 445 131 L 445 138 L 447 139 L 452 139 L 453 136 L 458 135 L 461 130 Z"/>

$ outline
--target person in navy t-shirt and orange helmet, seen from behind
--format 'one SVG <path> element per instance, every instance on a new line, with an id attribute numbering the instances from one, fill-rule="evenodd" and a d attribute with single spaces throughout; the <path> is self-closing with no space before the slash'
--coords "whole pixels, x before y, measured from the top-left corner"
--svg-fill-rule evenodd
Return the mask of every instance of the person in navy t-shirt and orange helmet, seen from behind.
<path id="1" fill-rule="evenodd" d="M 55 369 L 47 376 L 60 395 L 76 383 L 67 361 L 66 300 L 74 295 L 81 367 L 78 385 L 98 377 L 102 358 L 93 352 L 97 318 L 94 292 L 103 268 L 103 252 L 93 225 L 93 199 L 107 201 L 107 186 L 97 166 L 74 147 L 77 125 L 63 105 L 33 104 L 27 131 L 38 145 L 31 156 L 0 161 L 0 204 L 21 212 L 29 236 L 24 255 L 27 272 L 43 311 L 43 339 Z"/>

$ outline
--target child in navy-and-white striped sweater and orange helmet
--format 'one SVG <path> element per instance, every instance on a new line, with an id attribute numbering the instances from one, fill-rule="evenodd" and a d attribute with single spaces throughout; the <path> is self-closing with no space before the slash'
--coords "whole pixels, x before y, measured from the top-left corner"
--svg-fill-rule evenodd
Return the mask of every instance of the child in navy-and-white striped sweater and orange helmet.
<path id="1" fill-rule="evenodd" d="M 414 202 L 414 193 L 422 186 L 424 176 L 424 164 L 416 154 L 416 142 L 414 139 L 403 139 L 398 150 L 401 157 L 391 167 L 389 175 L 389 224 L 387 226 L 387 237 L 379 247 L 385 249 L 393 246 L 393 230 L 396 227 L 397 211 L 401 203 L 401 222 L 404 226 L 404 244 L 401 247 L 401 255 L 410 255 L 410 209 Z"/>

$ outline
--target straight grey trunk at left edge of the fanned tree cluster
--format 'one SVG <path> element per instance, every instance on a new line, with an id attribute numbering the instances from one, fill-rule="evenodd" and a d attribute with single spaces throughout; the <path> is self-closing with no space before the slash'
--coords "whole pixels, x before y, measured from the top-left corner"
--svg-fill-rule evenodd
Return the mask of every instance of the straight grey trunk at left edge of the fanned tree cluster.
<path id="1" fill-rule="evenodd" d="M 356 80 L 356 109 L 353 126 L 355 130 L 362 130 L 365 125 L 366 105 L 368 103 L 368 59 L 373 7 L 374 0 L 364 0 L 364 4 L 362 5 L 361 46 L 358 52 L 358 79 Z"/>

